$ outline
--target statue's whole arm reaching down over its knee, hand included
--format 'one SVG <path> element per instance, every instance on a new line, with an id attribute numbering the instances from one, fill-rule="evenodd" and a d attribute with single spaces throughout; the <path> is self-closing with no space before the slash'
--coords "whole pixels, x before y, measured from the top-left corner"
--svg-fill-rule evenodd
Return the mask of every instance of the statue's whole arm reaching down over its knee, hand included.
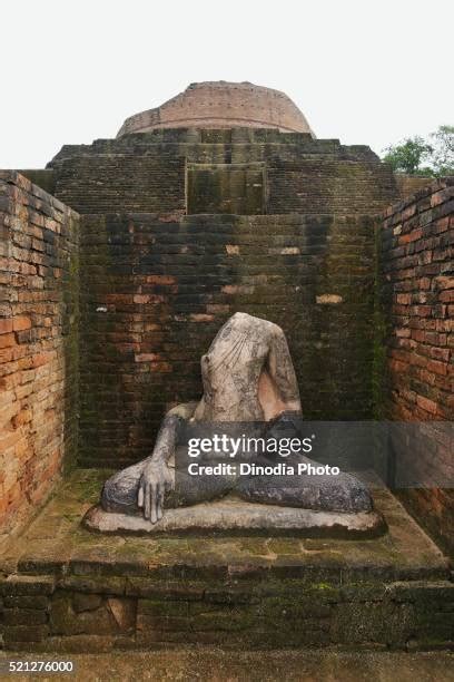
<path id="1" fill-rule="evenodd" d="M 175 485 L 175 475 L 168 466 L 175 454 L 181 428 L 191 418 L 197 402 L 178 405 L 169 410 L 159 429 L 156 445 L 150 457 L 146 459 L 139 481 L 137 504 L 144 509 L 145 518 L 156 524 L 164 513 L 164 497 Z"/>

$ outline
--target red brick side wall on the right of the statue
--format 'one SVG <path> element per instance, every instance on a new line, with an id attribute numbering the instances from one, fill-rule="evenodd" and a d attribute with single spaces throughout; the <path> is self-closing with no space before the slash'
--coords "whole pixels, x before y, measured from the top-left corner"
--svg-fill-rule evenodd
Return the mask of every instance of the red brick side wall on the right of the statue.
<path id="1" fill-rule="evenodd" d="M 454 178 L 437 181 L 385 213 L 382 272 L 389 313 L 385 410 L 394 420 L 454 419 L 453 197 Z M 435 425 L 430 440 L 426 448 L 415 444 L 417 470 L 436 465 L 453 480 L 452 441 L 437 436 Z M 445 547 L 454 548 L 454 491 L 422 488 L 402 495 L 418 520 Z"/>

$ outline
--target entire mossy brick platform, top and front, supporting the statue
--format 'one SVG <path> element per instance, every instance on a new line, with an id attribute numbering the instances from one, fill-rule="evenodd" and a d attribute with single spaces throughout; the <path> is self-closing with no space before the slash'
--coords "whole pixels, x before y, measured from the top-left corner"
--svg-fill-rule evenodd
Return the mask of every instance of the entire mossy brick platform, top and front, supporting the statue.
<path id="1" fill-rule="evenodd" d="M 93 534 L 80 522 L 108 476 L 77 471 L 2 552 L 6 649 L 453 645 L 450 564 L 386 490 L 388 532 L 369 539 Z"/>

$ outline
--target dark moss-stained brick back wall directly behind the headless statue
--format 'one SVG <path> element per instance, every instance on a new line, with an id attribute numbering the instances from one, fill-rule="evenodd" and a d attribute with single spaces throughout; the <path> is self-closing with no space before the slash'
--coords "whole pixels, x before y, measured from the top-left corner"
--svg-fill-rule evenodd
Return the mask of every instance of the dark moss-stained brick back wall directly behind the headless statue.
<path id="1" fill-rule="evenodd" d="M 306 417 L 372 416 L 369 217 L 85 215 L 81 234 L 81 464 L 147 456 L 236 311 L 285 330 Z"/>

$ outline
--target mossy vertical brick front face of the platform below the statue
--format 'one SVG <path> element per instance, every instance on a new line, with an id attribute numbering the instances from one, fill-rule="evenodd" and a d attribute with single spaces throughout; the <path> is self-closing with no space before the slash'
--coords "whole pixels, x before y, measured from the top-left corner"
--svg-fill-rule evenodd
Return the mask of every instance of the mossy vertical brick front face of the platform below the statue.
<path id="1" fill-rule="evenodd" d="M 274 577 L 274 571 L 269 573 Z M 154 581 L 88 573 L 60 578 L 61 586 L 52 576 L 12 576 L 0 583 L 6 649 L 68 653 L 188 643 L 235 650 L 452 646 L 454 587 L 447 579 L 338 586 L 326 582 L 326 572 L 318 583 L 312 575 L 288 579 L 287 574 L 294 576 L 287 567 L 269 584 L 257 578 L 216 582 L 206 574 L 195 581 L 193 574 L 195 569 L 189 578 L 176 581 L 170 574 Z"/>

